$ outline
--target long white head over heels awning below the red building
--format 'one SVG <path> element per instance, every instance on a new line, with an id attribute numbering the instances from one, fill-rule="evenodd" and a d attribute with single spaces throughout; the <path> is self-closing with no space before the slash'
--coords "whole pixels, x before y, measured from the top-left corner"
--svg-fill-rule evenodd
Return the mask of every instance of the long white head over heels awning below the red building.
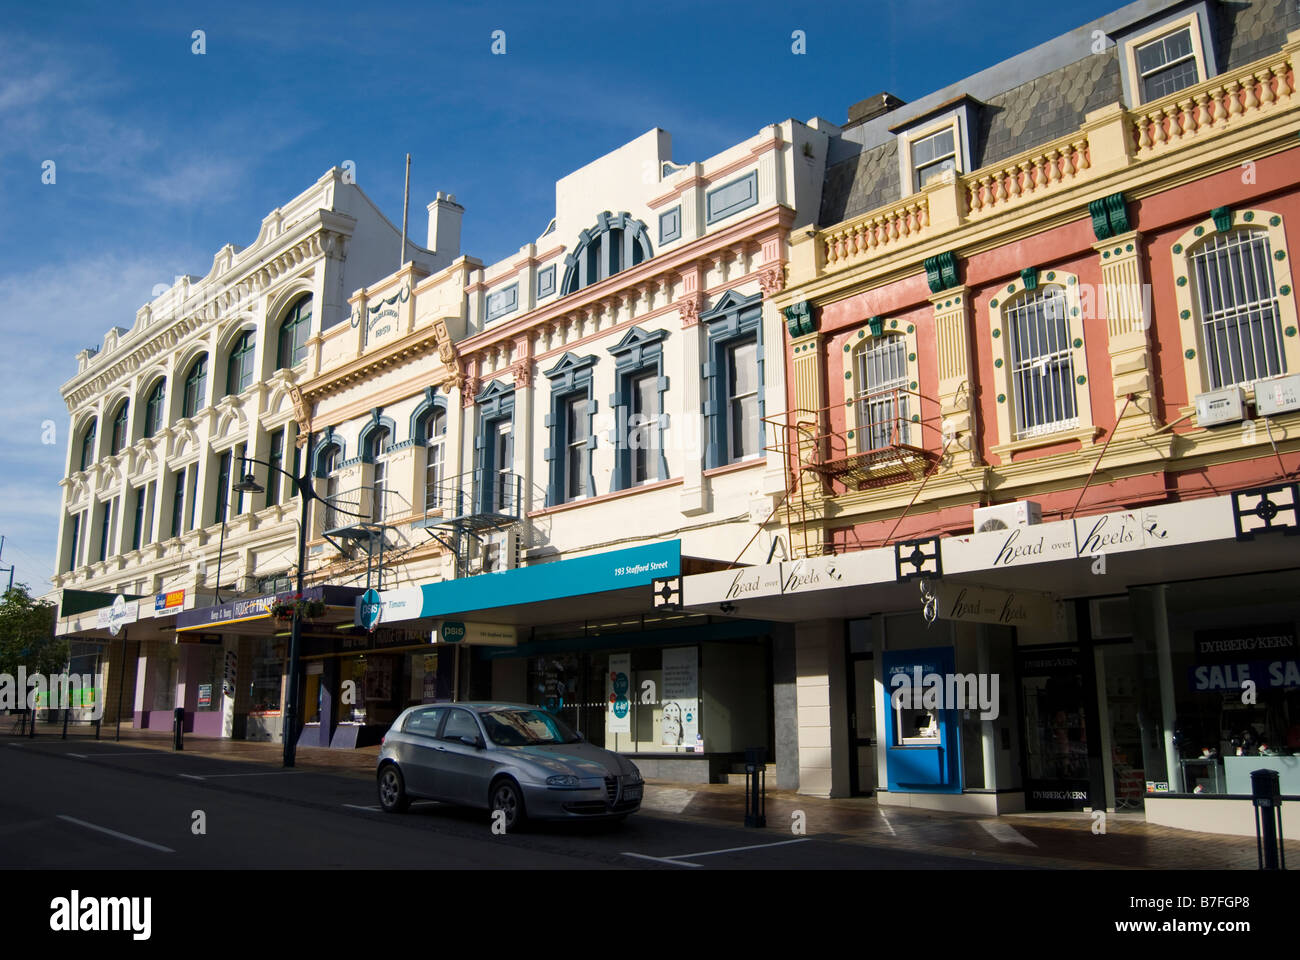
<path id="1" fill-rule="evenodd" d="M 1294 487 L 1287 485 L 1294 489 Z M 1295 567 L 1295 506 L 1260 506 L 1258 490 L 1067 520 L 928 537 L 835 557 L 682 578 L 684 609 L 798 622 L 920 610 L 919 580 L 987 587 L 1024 598 L 1100 597 L 1130 587 Z M 1290 514 L 1288 514 L 1290 511 Z M 1291 526 L 1287 527 L 1286 524 Z M 958 596 L 945 591 L 944 596 Z M 970 601 L 975 593 L 970 593 Z M 988 601 L 988 597 L 985 597 Z M 1026 604 L 1027 615 L 1040 610 Z M 989 622 L 942 610 L 942 619 Z M 1018 626 L 1010 622 L 1009 626 Z"/>

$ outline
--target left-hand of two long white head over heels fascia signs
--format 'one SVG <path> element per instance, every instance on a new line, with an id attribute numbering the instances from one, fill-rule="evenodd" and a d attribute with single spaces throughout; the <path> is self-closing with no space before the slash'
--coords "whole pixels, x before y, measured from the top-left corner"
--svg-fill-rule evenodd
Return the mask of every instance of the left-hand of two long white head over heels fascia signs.
<path id="1" fill-rule="evenodd" d="M 892 550 L 861 550 L 697 574 L 682 581 L 682 602 L 690 606 L 728 604 L 893 580 Z"/>

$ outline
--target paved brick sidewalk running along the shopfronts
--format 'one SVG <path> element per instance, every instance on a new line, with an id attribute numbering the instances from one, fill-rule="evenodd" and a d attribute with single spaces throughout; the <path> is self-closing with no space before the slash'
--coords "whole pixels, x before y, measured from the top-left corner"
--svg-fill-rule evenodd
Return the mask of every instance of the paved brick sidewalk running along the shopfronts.
<path id="1" fill-rule="evenodd" d="M 57 736 L 40 730 L 39 738 Z M 82 738 L 78 738 L 82 739 Z M 113 731 L 105 727 L 105 741 Z M 122 743 L 172 749 L 165 731 L 122 730 Z M 370 779 L 378 747 L 334 751 L 300 747 L 304 770 Z M 278 766 L 280 743 L 187 736 L 185 752 L 204 757 Z M 642 810 L 655 817 L 744 826 L 742 783 L 668 783 L 647 780 Z M 798 814 L 798 817 L 796 816 Z M 1238 869 L 1258 865 L 1254 838 L 1201 834 L 1147 823 L 1141 814 L 1109 814 L 1105 834 L 1093 833 L 1091 814 L 1024 813 L 970 817 L 914 808 L 881 807 L 874 797 L 823 799 L 786 790 L 767 791 L 767 827 L 755 836 L 777 838 L 802 820 L 809 836 L 910 849 L 916 853 L 970 856 L 975 861 L 1066 869 Z M 1300 864 L 1300 842 L 1287 842 L 1287 857 Z"/>

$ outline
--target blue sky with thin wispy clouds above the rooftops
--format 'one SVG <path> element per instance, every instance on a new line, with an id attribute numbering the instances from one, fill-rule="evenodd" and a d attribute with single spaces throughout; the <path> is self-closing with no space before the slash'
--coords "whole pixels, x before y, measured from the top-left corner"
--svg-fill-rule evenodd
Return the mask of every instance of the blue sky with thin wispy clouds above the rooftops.
<path id="1" fill-rule="evenodd" d="M 48 589 L 77 351 L 330 167 L 355 163 L 400 224 L 411 152 L 412 235 L 452 193 L 462 250 L 491 263 L 542 230 L 559 177 L 653 126 L 701 160 L 786 117 L 918 99 L 1119 5 L 5 0 L 0 565 Z"/>

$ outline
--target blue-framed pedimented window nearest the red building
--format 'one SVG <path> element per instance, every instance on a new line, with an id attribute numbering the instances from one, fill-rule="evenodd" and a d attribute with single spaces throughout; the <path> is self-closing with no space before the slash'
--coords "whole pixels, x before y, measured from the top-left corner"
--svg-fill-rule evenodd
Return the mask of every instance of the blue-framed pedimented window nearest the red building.
<path id="1" fill-rule="evenodd" d="M 762 294 L 728 290 L 699 315 L 708 338 L 705 375 L 706 467 L 763 454 Z"/>

